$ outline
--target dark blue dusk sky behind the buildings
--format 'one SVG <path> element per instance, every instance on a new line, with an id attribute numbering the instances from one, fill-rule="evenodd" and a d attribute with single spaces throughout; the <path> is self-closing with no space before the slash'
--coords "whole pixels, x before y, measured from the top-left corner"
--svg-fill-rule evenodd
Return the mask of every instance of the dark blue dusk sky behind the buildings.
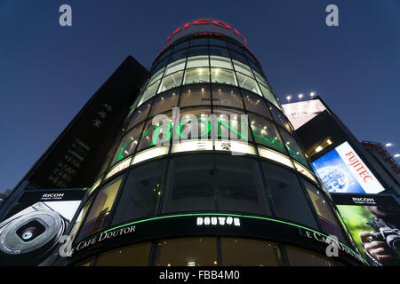
<path id="1" fill-rule="evenodd" d="M 61 4 L 73 27 L 60 27 Z M 339 27 L 325 25 L 328 4 Z M 356 138 L 400 152 L 399 0 L 0 0 L 0 192 L 128 55 L 150 67 L 173 30 L 204 16 L 247 39 L 281 101 L 316 91 Z"/>

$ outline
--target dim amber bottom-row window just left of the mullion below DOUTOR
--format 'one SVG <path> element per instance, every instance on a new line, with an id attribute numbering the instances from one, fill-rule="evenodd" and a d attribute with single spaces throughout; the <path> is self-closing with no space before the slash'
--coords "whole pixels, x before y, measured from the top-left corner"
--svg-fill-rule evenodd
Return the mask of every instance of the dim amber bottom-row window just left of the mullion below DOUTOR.
<path id="1" fill-rule="evenodd" d="M 216 266 L 216 238 L 187 238 L 158 241 L 155 266 Z"/>

